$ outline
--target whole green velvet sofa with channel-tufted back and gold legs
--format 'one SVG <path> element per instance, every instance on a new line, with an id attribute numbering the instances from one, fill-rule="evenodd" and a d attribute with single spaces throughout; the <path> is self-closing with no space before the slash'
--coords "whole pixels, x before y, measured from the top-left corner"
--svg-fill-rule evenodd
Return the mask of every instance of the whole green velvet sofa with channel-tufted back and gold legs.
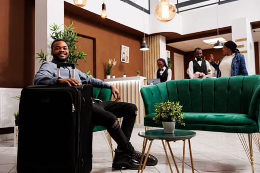
<path id="1" fill-rule="evenodd" d="M 259 139 L 260 75 L 172 80 L 142 87 L 141 95 L 146 127 L 162 127 L 153 121 L 154 105 L 169 100 L 183 105 L 185 126 L 176 124 L 177 129 L 247 133 L 254 172 L 252 134 Z"/>

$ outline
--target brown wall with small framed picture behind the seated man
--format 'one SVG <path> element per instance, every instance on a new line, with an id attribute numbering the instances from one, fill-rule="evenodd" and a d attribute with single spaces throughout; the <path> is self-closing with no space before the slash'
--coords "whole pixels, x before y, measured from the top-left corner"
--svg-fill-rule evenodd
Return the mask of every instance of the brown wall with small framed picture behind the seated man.
<path id="1" fill-rule="evenodd" d="M 100 20 L 106 19 L 101 18 Z M 111 75 L 123 77 L 123 73 L 126 72 L 127 77 L 129 77 L 136 76 L 136 71 L 140 71 L 140 75 L 143 76 L 143 52 L 139 50 L 142 38 L 114 30 L 98 23 L 98 21 L 89 20 L 84 15 L 65 10 L 64 24 L 70 25 L 71 23 L 76 27 L 77 33 L 82 36 L 81 39 L 88 37 L 95 40 L 93 46 L 79 40 L 78 45 L 88 54 L 86 62 L 79 62 L 77 67 L 79 70 L 85 72 L 93 65 L 93 73 L 91 74 L 98 79 L 104 80 L 106 76 L 104 63 L 108 62 L 109 58 L 115 58 L 117 64 L 112 68 Z M 129 47 L 129 63 L 120 62 L 121 45 Z M 90 63 L 92 64 L 90 65 Z"/>

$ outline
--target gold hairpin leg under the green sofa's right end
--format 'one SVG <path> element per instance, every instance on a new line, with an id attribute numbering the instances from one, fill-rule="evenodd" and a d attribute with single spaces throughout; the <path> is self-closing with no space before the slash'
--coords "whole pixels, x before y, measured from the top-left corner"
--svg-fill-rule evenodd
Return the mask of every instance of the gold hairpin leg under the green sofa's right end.
<path id="1" fill-rule="evenodd" d="M 246 155 L 249 159 L 249 162 L 251 164 L 252 173 L 255 173 L 254 169 L 254 157 L 253 157 L 253 147 L 252 147 L 252 134 L 248 134 L 248 145 L 247 141 L 245 139 L 244 134 L 238 133 L 239 140 L 246 152 Z"/>

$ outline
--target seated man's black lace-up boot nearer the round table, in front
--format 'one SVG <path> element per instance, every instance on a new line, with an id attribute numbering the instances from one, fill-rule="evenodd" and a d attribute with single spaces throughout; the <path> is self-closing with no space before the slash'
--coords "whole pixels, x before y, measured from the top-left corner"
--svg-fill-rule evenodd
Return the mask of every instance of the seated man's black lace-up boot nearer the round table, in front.
<path id="1" fill-rule="evenodd" d="M 137 150 L 135 150 L 132 147 L 131 150 L 127 152 L 127 156 L 132 158 L 132 159 L 134 159 L 135 161 L 137 161 L 137 163 L 140 163 L 141 162 L 142 153 L 137 151 Z M 143 163 L 145 161 L 145 157 L 146 157 L 146 154 L 144 155 Z M 152 154 L 149 154 L 149 156 L 147 158 L 146 166 L 155 166 L 155 165 L 157 165 L 157 163 L 158 163 L 158 160 L 156 159 L 156 157 L 153 156 Z"/>

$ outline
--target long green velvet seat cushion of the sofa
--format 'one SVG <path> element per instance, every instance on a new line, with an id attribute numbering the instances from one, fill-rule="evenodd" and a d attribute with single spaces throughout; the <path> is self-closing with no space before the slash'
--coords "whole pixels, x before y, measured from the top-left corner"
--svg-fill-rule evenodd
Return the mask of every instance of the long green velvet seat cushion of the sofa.
<path id="1" fill-rule="evenodd" d="M 146 115 L 144 125 L 162 128 L 161 123 L 153 120 L 155 115 L 156 113 Z M 257 123 L 246 114 L 184 112 L 184 122 L 185 126 L 176 124 L 176 128 L 235 133 L 253 133 L 258 130 Z"/>

